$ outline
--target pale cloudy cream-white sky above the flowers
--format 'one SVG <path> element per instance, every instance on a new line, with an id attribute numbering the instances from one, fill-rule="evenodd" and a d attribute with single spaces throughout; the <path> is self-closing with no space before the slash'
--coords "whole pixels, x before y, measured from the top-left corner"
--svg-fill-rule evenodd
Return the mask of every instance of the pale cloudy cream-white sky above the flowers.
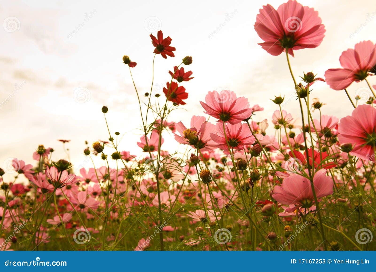
<path id="1" fill-rule="evenodd" d="M 299 119 L 299 103 L 293 98 L 293 81 L 284 54 L 271 56 L 253 28 L 256 15 L 267 3 L 277 8 L 285 1 L 20 1 L 0 5 L 0 167 L 11 158 L 35 164 L 32 153 L 39 144 L 53 147 L 53 160 L 67 159 L 58 139 L 66 146 L 72 163 L 92 167 L 85 160 L 85 141 L 109 138 L 101 112 L 112 133 L 120 132 L 120 150 L 139 154 L 139 108 L 129 69 L 122 62 L 129 55 L 137 66 L 133 78 L 142 95 L 150 92 L 154 47 L 149 34 L 162 30 L 173 40 L 175 58 L 155 58 L 153 92 L 161 93 L 168 70 L 184 56 L 193 57 L 194 79 L 184 82 L 186 105 L 168 121 L 189 124 L 192 115 L 203 115 L 199 101 L 208 91 L 229 89 L 259 104 L 256 120 L 268 119 L 278 109 L 274 96 L 285 96 L 283 109 Z M 290 58 L 295 77 L 313 71 L 323 77 L 328 68 L 340 68 L 339 56 L 363 40 L 376 42 L 376 2 L 317 0 L 299 1 L 318 11 L 326 33 L 315 49 L 295 51 Z M 370 78 L 371 84 L 376 80 Z M 365 82 L 348 91 L 368 96 Z M 312 86 L 323 114 L 338 118 L 351 114 L 343 91 L 324 82 Z M 163 98 L 163 94 L 162 94 Z M 313 113 L 318 118 L 318 112 Z M 299 119 L 300 122 L 300 119 Z M 273 133 L 273 132 L 272 132 Z M 162 146 L 174 151 L 173 137 Z M 170 138 L 169 138 L 170 137 Z M 102 163 L 98 160 L 98 164 Z M 100 166 L 100 165 L 98 165 Z M 8 166 L 9 167 L 9 166 Z"/>

